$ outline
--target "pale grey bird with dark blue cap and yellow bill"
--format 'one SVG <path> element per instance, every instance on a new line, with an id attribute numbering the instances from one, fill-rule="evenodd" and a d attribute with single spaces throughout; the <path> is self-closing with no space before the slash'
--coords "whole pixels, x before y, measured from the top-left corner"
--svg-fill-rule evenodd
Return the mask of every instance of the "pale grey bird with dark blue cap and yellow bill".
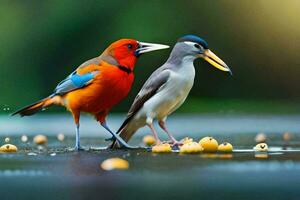
<path id="1" fill-rule="evenodd" d="M 229 72 L 230 68 L 209 48 L 208 43 L 196 36 L 185 35 L 178 39 L 167 61 L 156 69 L 142 86 L 134 99 L 126 119 L 117 134 L 128 142 L 138 129 L 148 126 L 160 144 L 153 121 L 157 120 L 161 129 L 167 133 L 170 143 L 179 145 L 166 126 L 166 119 L 186 100 L 195 78 L 194 60 L 202 58 L 219 70 Z M 120 148 L 116 140 L 110 146 Z"/>

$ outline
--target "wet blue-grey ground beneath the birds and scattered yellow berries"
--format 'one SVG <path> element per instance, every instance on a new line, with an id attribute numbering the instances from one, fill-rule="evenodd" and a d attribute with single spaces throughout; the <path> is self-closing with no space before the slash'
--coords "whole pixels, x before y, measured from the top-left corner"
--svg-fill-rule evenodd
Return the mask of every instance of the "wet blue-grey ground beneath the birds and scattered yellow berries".
<path id="1" fill-rule="evenodd" d="M 63 119 L 65 123 L 61 123 Z M 2 199 L 299 199 L 300 129 L 296 123 L 298 119 L 298 116 L 290 118 L 258 116 L 256 122 L 255 117 L 245 116 L 227 116 L 223 120 L 221 116 L 211 118 L 177 116 L 174 121 L 170 119 L 171 129 L 181 127 L 174 129 L 179 138 L 190 136 L 199 139 L 204 135 L 213 135 L 219 142 L 231 142 L 237 151 L 225 155 L 153 154 L 146 150 L 72 152 L 66 150 L 73 146 L 74 142 L 73 135 L 71 132 L 68 133 L 66 128 L 71 125 L 68 118 L 62 117 L 60 123 L 51 117 L 48 118 L 50 124 L 61 124 L 61 130 L 66 131 L 64 141 L 58 141 L 56 138 L 60 125 L 53 126 L 52 130 L 51 126 L 43 129 L 46 123 L 40 121 L 36 125 L 40 128 L 38 130 L 32 124 L 36 120 L 30 122 L 27 118 L 25 120 L 28 130 L 22 131 L 19 129 L 22 126 L 19 119 L 12 120 L 10 123 L 15 123 L 16 133 L 8 134 L 1 130 L 1 143 L 9 136 L 10 143 L 16 144 L 19 152 L 0 154 L 0 195 Z M 46 121 L 46 118 L 40 120 Z M 114 120 L 117 121 L 118 118 L 112 121 Z M 195 123 L 197 120 L 199 123 Z M 243 125 L 240 124 L 240 120 L 244 122 Z M 269 124 L 263 126 L 266 120 Z M 4 121 L 2 118 L 1 122 Z M 85 119 L 83 121 L 86 122 Z M 187 123 L 183 124 L 183 121 Z M 195 125 L 189 126 L 189 121 Z M 203 121 L 206 122 L 205 125 Z M 235 127 L 227 128 L 238 122 Z M 224 125 L 224 131 L 218 131 L 217 129 L 221 128 L 216 128 L 217 124 L 221 128 Z M 115 126 L 114 122 L 112 126 Z M 209 130 L 209 126 L 212 130 L 210 133 L 206 131 Z M 198 129 L 201 127 L 199 133 L 196 132 L 197 127 Z M 239 127 L 240 132 L 236 127 Z M 269 131 L 258 130 L 264 127 Z M 83 145 L 104 147 L 107 144 L 104 142 L 107 134 L 103 132 L 97 136 L 95 130 L 87 134 L 88 129 L 87 125 L 83 128 L 85 133 L 82 134 Z M 251 152 L 257 131 L 266 131 L 267 143 L 272 152 L 268 154 Z M 283 141 L 283 131 L 292 131 L 290 142 Z M 29 142 L 21 141 L 22 133 L 28 135 Z M 45 146 L 33 144 L 32 137 L 36 133 L 48 135 L 48 144 Z M 142 135 L 143 131 L 135 137 L 132 144 L 140 144 Z M 288 150 L 282 151 L 282 148 Z M 111 157 L 128 160 L 129 169 L 102 170 L 101 162 Z"/>

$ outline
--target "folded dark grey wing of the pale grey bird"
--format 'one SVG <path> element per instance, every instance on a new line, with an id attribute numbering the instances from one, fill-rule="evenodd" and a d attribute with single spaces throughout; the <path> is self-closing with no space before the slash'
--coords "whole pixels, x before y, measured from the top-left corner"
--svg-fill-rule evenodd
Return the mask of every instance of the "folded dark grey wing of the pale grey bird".
<path id="1" fill-rule="evenodd" d="M 134 115 L 143 107 L 144 103 L 154 96 L 156 92 L 165 85 L 169 77 L 170 71 L 163 68 L 159 68 L 149 77 L 138 95 L 135 97 L 134 102 L 128 111 L 126 119 L 117 133 L 119 133 L 129 123 Z"/>

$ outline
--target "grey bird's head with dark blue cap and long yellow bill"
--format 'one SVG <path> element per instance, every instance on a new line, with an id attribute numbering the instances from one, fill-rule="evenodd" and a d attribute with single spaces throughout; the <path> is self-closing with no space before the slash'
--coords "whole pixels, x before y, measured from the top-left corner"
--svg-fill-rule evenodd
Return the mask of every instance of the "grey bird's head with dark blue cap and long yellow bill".
<path id="1" fill-rule="evenodd" d="M 230 68 L 209 48 L 207 42 L 196 35 L 185 35 L 178 39 L 172 51 L 173 58 L 202 58 L 219 70 L 231 73 Z"/>

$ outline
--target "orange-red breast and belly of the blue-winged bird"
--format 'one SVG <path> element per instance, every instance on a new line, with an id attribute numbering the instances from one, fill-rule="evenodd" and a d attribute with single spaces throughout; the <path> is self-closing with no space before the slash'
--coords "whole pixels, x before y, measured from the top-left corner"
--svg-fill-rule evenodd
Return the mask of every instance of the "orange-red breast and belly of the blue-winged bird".
<path id="1" fill-rule="evenodd" d="M 64 96 L 68 109 L 92 114 L 108 112 L 128 95 L 134 79 L 132 73 L 112 65 L 98 69 L 100 73 L 90 85 Z"/>

